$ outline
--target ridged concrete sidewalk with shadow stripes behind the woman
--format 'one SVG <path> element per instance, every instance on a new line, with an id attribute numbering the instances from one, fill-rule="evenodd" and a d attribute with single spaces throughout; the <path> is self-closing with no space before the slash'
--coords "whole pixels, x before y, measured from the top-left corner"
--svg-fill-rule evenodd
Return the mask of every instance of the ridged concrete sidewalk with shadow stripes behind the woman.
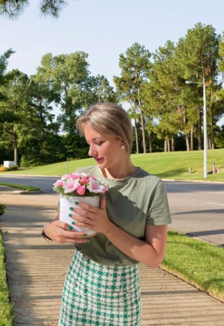
<path id="1" fill-rule="evenodd" d="M 44 223 L 56 216 L 56 195 L 16 195 L 0 186 L 0 218 L 16 326 L 56 326 L 73 245 L 46 242 Z M 224 326 L 224 304 L 160 268 L 140 265 L 142 325 Z M 121 325 L 122 326 L 122 325 Z"/>

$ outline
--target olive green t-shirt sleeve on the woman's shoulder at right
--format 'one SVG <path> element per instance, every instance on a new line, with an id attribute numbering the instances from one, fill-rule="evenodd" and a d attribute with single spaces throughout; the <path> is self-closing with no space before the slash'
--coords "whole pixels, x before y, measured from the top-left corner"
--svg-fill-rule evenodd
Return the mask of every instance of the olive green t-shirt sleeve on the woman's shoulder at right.
<path id="1" fill-rule="evenodd" d="M 146 223 L 151 225 L 165 225 L 171 223 L 167 192 L 161 180 L 157 183 L 149 202 Z"/>

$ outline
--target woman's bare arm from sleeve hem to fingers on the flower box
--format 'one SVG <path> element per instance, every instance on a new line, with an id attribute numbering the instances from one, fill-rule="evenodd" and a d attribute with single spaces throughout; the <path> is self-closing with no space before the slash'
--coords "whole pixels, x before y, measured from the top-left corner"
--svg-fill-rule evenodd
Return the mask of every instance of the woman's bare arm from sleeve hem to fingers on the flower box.
<path id="1" fill-rule="evenodd" d="M 105 198 L 102 198 L 100 208 L 82 202 L 78 205 L 83 210 L 74 208 L 74 212 L 81 215 L 74 216 L 75 225 L 103 233 L 122 253 L 152 268 L 158 267 L 162 262 L 167 244 L 167 225 L 146 225 L 144 241 L 110 221 Z"/>

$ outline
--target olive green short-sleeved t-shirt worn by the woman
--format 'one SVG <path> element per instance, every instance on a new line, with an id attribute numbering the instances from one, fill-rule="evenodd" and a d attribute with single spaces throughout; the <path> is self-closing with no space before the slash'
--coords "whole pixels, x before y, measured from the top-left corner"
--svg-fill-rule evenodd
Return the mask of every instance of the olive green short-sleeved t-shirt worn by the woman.
<path id="1" fill-rule="evenodd" d="M 108 217 L 130 235 L 144 240 L 146 224 L 171 223 L 163 182 L 143 169 L 139 168 L 131 177 L 115 180 L 105 178 L 97 165 L 79 168 L 75 172 L 90 173 L 108 185 Z M 102 233 L 90 237 L 90 241 L 90 244 L 75 244 L 75 248 L 99 264 L 115 266 L 138 263 L 123 254 Z"/>

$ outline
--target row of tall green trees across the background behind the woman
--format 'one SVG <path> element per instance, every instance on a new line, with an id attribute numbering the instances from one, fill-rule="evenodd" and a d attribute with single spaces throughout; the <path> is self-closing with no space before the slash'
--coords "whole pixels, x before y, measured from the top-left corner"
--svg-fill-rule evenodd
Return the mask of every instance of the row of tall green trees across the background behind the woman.
<path id="1" fill-rule="evenodd" d="M 151 53 L 135 42 L 119 56 L 115 90 L 89 71 L 88 54 L 42 56 L 34 75 L 6 73 L 12 49 L 0 56 L 0 163 L 23 166 L 88 157 L 75 128 L 77 117 L 97 102 L 128 103 L 133 153 L 203 149 L 203 85 L 208 148 L 224 147 L 224 36 L 197 23 L 177 44 L 168 40 Z M 59 106 L 55 120 L 53 107 Z"/>

